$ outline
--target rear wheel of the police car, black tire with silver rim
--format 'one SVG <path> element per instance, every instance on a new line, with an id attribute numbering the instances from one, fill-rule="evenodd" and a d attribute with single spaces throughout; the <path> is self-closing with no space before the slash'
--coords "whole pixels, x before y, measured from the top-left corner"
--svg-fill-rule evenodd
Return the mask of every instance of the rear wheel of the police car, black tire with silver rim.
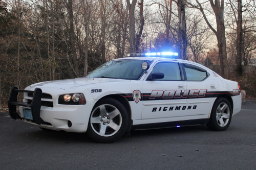
<path id="1" fill-rule="evenodd" d="M 221 110 L 221 108 L 223 109 Z M 231 123 L 231 118 L 232 108 L 228 100 L 226 98 L 217 98 L 211 109 L 210 119 L 206 126 L 210 130 L 225 131 Z"/>

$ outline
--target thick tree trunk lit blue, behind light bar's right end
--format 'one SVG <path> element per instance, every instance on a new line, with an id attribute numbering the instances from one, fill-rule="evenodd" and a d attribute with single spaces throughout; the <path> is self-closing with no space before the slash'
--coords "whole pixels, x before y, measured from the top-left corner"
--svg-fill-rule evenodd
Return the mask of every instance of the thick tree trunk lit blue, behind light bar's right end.
<path id="1" fill-rule="evenodd" d="M 187 36 L 186 36 L 186 17 L 185 17 L 185 2 L 178 0 L 178 15 L 179 15 L 179 56 L 182 60 L 187 60 Z"/>

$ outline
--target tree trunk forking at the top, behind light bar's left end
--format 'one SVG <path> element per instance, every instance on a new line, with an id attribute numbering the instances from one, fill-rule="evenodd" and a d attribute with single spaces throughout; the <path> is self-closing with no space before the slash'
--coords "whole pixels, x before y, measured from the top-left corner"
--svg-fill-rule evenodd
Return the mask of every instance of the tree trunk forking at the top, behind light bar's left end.
<path id="1" fill-rule="evenodd" d="M 130 0 L 126 0 L 127 8 L 129 10 L 129 16 L 130 16 L 130 53 L 136 53 L 136 37 L 135 37 L 135 6 L 137 3 L 137 0 L 133 0 L 132 4 L 130 3 Z"/>

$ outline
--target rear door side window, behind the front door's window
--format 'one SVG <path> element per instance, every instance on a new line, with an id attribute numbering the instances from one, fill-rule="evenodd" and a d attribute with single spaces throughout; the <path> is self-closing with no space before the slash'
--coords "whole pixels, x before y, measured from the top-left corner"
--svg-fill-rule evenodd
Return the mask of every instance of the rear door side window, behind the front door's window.
<path id="1" fill-rule="evenodd" d="M 202 81 L 208 76 L 206 70 L 197 66 L 184 64 L 184 69 L 187 81 Z"/>

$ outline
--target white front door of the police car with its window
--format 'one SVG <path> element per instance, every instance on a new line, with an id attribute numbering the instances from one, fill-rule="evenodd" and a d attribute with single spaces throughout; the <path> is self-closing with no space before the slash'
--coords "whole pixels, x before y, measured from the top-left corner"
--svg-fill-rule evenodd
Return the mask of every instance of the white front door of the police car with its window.
<path id="1" fill-rule="evenodd" d="M 150 80 L 152 73 L 163 72 L 164 78 Z M 186 82 L 179 62 L 159 61 L 143 81 L 142 124 L 185 120 Z"/>

